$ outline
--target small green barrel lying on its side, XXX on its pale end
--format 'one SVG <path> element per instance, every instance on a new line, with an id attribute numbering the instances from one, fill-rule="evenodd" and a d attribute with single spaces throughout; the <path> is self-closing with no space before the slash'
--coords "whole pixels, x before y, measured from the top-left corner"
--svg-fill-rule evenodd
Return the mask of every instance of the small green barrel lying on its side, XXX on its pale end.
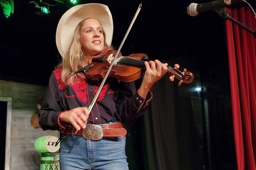
<path id="1" fill-rule="evenodd" d="M 37 138 L 34 143 L 35 150 L 41 153 L 57 152 L 60 147 L 60 143 L 57 146 L 55 146 L 58 139 L 59 138 L 56 136 L 42 136 L 40 138 Z"/>

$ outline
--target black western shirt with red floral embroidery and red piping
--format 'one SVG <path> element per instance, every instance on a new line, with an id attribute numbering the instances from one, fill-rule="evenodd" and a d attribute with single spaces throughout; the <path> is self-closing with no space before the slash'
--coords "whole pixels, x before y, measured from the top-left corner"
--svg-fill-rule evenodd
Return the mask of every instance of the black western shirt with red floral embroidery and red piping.
<path id="1" fill-rule="evenodd" d="M 59 115 L 64 110 L 76 107 L 89 107 L 98 85 L 87 79 L 78 79 L 75 84 L 65 87 L 61 79 L 62 68 L 56 69 L 50 76 L 41 108 L 39 110 L 39 124 L 43 130 L 61 130 L 64 128 L 59 122 Z M 60 91 L 60 97 L 59 97 Z M 61 109 L 59 99 L 64 106 Z M 88 124 L 105 124 L 110 122 L 133 122 L 143 114 L 152 99 L 149 92 L 146 98 L 136 91 L 134 82 L 118 81 L 109 78 L 103 86 L 88 118 Z"/>

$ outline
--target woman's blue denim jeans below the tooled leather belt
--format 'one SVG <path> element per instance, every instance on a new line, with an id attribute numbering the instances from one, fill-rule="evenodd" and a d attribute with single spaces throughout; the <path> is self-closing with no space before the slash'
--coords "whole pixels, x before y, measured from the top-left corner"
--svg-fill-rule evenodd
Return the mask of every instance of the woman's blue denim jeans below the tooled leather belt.
<path id="1" fill-rule="evenodd" d="M 61 170 L 129 170 L 126 159 L 125 137 L 90 141 L 67 135 L 60 142 Z"/>

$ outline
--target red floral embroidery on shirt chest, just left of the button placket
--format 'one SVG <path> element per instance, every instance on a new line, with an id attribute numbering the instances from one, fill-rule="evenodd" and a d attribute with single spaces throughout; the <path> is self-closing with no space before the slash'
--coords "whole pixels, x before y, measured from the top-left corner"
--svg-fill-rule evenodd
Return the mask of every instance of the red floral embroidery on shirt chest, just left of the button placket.
<path id="1" fill-rule="evenodd" d="M 71 84 L 71 87 L 74 89 L 75 94 L 79 100 L 82 102 L 88 101 L 86 90 L 87 83 L 85 79 L 81 78 L 80 80 L 76 81 L 75 84 Z"/>

